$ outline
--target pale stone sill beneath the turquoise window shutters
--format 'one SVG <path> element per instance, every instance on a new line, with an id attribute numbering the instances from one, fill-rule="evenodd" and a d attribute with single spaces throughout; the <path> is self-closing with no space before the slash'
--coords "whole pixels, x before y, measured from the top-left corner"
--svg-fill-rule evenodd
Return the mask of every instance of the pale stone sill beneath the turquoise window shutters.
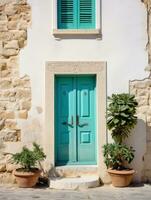
<path id="1" fill-rule="evenodd" d="M 53 29 L 53 35 L 100 35 L 100 29 Z"/>

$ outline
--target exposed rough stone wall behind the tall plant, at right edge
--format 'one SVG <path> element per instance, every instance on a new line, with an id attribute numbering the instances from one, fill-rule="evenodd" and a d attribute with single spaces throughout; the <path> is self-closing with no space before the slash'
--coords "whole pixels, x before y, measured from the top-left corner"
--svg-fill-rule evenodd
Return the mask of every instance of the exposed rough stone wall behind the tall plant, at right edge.
<path id="1" fill-rule="evenodd" d="M 130 81 L 130 93 L 136 96 L 138 102 L 138 123 L 141 119 L 143 119 L 143 123 L 146 127 L 140 134 L 146 135 L 146 148 L 142 157 L 143 169 L 141 171 L 141 180 L 143 182 L 151 182 L 151 79 L 146 78 L 144 80 Z M 139 140 L 141 141 L 141 139 Z M 143 143 L 138 143 L 138 145 L 140 145 L 140 148 L 143 148 Z"/>

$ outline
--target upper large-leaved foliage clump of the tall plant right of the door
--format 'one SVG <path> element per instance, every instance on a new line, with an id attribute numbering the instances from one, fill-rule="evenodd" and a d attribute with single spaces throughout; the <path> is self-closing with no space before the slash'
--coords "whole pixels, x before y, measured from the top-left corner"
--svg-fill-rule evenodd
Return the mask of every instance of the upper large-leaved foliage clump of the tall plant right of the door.
<path id="1" fill-rule="evenodd" d="M 113 94 L 108 98 L 107 128 L 115 142 L 121 144 L 137 122 L 137 101 L 134 95 Z"/>

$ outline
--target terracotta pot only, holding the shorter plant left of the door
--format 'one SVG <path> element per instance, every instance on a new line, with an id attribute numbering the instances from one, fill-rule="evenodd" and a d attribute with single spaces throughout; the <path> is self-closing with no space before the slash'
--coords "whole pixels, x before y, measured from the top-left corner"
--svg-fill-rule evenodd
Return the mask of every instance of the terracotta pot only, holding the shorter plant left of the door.
<path id="1" fill-rule="evenodd" d="M 23 172 L 21 169 L 17 169 L 14 171 L 14 176 L 19 187 L 31 188 L 36 185 L 40 173 L 39 169 L 35 169 L 32 172 Z"/>

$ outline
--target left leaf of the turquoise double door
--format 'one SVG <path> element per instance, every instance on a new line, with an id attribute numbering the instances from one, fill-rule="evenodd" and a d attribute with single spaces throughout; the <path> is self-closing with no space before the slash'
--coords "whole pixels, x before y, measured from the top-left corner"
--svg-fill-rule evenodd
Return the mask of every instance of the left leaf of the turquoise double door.
<path id="1" fill-rule="evenodd" d="M 72 118 L 76 113 L 75 88 L 72 77 L 56 78 L 56 162 L 66 164 L 76 159 L 76 127 Z"/>

